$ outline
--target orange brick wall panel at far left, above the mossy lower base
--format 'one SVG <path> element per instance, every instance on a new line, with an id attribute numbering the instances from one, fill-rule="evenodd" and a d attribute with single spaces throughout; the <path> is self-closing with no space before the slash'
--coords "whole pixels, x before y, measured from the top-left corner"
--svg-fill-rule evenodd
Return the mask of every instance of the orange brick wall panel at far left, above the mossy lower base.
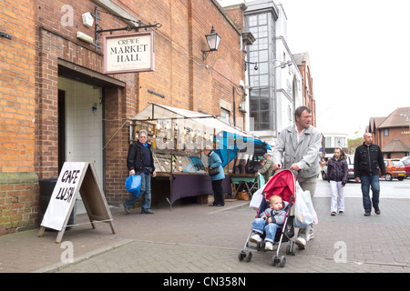
<path id="1" fill-rule="evenodd" d="M 34 171 L 35 57 L 33 1 L 0 2 L 0 173 Z"/>

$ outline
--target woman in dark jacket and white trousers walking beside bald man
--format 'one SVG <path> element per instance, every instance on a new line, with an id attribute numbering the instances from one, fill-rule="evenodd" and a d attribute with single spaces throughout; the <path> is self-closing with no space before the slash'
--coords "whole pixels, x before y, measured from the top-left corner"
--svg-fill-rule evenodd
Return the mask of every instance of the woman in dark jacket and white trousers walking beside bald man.
<path id="1" fill-rule="evenodd" d="M 336 147 L 333 157 L 327 162 L 327 180 L 332 191 L 331 216 L 335 216 L 337 212 L 344 212 L 343 187 L 347 183 L 347 172 L 348 166 L 343 149 Z"/>

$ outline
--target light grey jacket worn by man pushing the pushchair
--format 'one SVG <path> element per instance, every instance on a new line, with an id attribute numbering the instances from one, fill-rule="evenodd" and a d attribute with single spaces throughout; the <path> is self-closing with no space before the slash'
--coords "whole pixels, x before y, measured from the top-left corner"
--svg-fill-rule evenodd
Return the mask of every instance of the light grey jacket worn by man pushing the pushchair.
<path id="1" fill-rule="evenodd" d="M 298 164 L 301 166 L 301 178 L 319 175 L 321 172 L 319 149 L 322 146 L 322 134 L 311 125 L 306 128 L 299 143 L 297 135 L 294 124 L 282 130 L 273 149 L 273 163 L 282 164 L 284 169 L 289 169 L 294 163 Z"/>

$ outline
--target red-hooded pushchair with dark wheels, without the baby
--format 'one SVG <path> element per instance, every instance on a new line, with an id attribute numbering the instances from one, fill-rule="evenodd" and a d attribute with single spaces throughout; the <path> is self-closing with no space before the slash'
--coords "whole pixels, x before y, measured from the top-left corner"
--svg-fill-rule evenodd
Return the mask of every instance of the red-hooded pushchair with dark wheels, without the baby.
<path id="1" fill-rule="evenodd" d="M 261 199 L 261 205 L 259 206 L 258 213 L 256 217 L 259 216 L 261 212 L 263 212 L 267 207 L 269 207 L 269 199 L 271 196 L 277 195 L 281 196 L 282 200 L 288 202 L 288 206 L 286 209 L 286 217 L 284 223 L 281 227 L 278 227 L 275 235 L 275 239 L 273 242 L 273 246 L 276 247 L 276 255 L 272 256 L 272 266 L 281 266 L 284 267 L 286 265 L 286 257 L 279 256 L 279 251 L 282 245 L 282 242 L 288 242 L 286 246 L 286 254 L 294 256 L 294 227 L 293 227 L 293 216 L 290 216 L 291 207 L 294 203 L 295 199 L 295 189 L 296 189 L 296 179 L 293 176 L 290 170 L 282 170 L 278 172 L 276 175 L 272 176 L 271 179 L 267 182 L 263 190 L 263 198 Z M 248 251 L 247 248 L 257 249 L 258 251 L 264 251 L 265 242 L 263 240 L 265 234 L 262 236 L 262 242 L 256 244 L 256 246 L 250 245 L 250 238 L 251 238 L 252 230 L 246 240 L 245 246 L 240 251 L 238 258 L 240 261 L 245 259 L 247 262 L 251 262 L 252 253 Z"/>

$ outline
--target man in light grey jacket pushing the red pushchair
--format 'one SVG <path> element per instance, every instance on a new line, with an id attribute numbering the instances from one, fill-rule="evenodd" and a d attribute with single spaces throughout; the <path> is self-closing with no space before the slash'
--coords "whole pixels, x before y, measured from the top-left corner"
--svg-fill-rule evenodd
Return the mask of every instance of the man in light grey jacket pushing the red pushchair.
<path id="1" fill-rule="evenodd" d="M 305 106 L 295 110 L 295 124 L 282 130 L 273 149 L 273 170 L 291 169 L 299 172 L 299 185 L 303 191 L 310 191 L 313 197 L 317 177 L 320 173 L 319 149 L 322 146 L 322 134 L 311 125 L 312 111 Z M 313 238 L 313 226 L 299 229 L 295 243 L 300 248 Z"/>

